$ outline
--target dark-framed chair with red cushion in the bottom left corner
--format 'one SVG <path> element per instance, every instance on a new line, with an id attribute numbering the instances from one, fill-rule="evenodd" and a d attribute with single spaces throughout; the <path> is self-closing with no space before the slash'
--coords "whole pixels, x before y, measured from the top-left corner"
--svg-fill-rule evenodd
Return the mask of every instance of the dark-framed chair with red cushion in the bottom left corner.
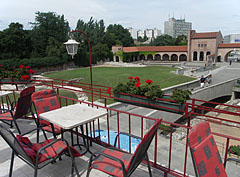
<path id="1" fill-rule="evenodd" d="M 66 140 L 51 139 L 42 143 L 32 143 L 27 137 L 21 135 L 15 137 L 10 130 L 2 125 L 0 125 L 0 135 L 12 149 L 9 177 L 12 176 L 15 155 L 34 168 L 34 177 L 37 177 L 38 169 L 55 162 L 63 154 L 71 157 L 72 176 L 74 169 L 79 176 L 74 157 L 79 157 L 81 154 L 69 146 Z"/>

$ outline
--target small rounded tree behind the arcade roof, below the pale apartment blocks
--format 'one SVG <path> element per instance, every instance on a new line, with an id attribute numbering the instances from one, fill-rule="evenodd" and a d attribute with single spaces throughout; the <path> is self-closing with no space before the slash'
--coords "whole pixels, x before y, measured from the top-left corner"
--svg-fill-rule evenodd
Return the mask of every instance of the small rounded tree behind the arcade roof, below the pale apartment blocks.
<path id="1" fill-rule="evenodd" d="M 175 38 L 169 35 L 161 35 L 157 36 L 156 39 L 154 39 L 151 42 L 152 46 L 173 46 L 175 45 Z"/>

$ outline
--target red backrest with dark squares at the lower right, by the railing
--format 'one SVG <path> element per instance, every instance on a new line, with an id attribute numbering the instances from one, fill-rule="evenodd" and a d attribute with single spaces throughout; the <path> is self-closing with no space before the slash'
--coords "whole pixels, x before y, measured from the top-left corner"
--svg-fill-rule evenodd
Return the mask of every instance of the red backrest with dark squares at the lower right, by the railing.
<path id="1" fill-rule="evenodd" d="M 188 140 L 196 176 L 227 177 L 208 122 L 194 126 Z"/>

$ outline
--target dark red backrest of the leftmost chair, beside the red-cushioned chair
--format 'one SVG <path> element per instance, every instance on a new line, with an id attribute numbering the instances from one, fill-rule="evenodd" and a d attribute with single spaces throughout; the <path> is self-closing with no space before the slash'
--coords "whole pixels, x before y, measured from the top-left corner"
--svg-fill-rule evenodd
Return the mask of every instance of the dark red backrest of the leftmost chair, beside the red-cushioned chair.
<path id="1" fill-rule="evenodd" d="M 20 92 L 20 95 L 17 100 L 16 110 L 14 112 L 14 117 L 23 118 L 25 116 L 30 107 L 31 107 L 31 95 L 35 91 L 35 87 L 28 87 Z"/>

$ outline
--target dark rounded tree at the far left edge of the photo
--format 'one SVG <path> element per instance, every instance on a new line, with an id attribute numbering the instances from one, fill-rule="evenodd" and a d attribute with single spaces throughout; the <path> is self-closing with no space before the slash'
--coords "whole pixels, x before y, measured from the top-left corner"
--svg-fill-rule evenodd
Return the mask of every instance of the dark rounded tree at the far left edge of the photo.
<path id="1" fill-rule="evenodd" d="M 31 53 L 29 31 L 20 23 L 11 23 L 0 33 L 0 59 L 25 58 Z"/>

